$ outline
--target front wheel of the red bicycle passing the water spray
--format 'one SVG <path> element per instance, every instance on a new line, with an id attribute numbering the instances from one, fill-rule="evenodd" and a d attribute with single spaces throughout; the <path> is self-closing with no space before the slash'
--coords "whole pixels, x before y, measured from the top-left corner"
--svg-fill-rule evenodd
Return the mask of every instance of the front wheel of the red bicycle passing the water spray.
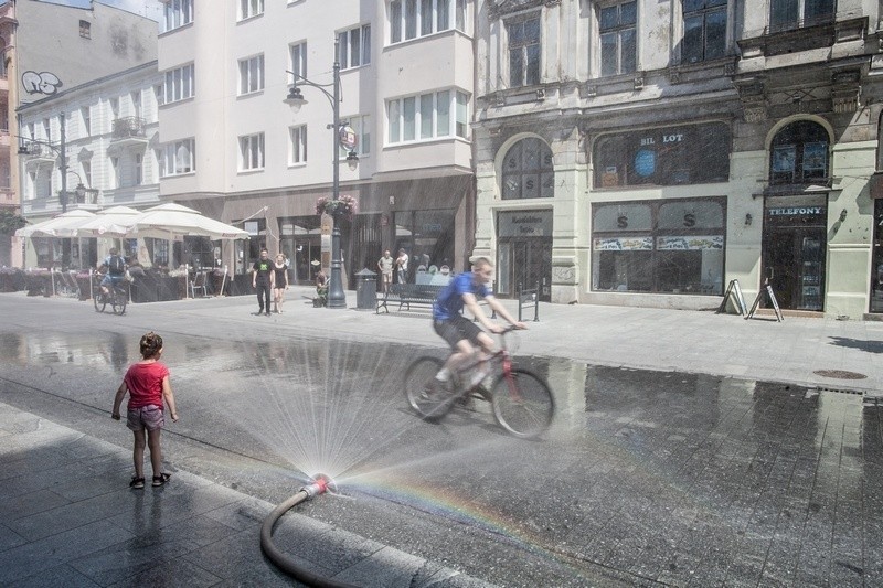
<path id="1" fill-rule="evenodd" d="M 491 388 L 493 418 L 510 434 L 531 439 L 545 431 L 555 414 L 549 385 L 533 372 L 513 368 Z"/>

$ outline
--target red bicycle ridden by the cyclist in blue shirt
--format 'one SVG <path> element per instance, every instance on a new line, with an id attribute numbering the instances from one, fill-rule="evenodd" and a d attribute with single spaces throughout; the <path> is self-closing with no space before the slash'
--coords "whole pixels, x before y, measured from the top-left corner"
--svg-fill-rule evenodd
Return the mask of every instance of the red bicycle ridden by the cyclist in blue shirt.
<path id="1" fill-rule="evenodd" d="M 438 357 L 417 357 L 405 372 L 404 386 L 411 407 L 427 421 L 440 420 L 458 400 L 478 398 L 489 402 L 493 418 L 509 434 L 531 439 L 544 432 L 552 424 L 555 400 L 549 385 L 530 370 L 514 367 L 507 345 L 508 327 L 500 334 L 499 350 L 487 361 L 497 375 L 490 387 L 481 383 L 470 385 L 471 373 L 482 361 L 474 360 L 451 374 L 450 389 L 440 386 L 435 376 L 444 362 Z M 493 372 L 491 372 L 493 375 Z M 466 383 L 466 385 L 464 384 Z"/>

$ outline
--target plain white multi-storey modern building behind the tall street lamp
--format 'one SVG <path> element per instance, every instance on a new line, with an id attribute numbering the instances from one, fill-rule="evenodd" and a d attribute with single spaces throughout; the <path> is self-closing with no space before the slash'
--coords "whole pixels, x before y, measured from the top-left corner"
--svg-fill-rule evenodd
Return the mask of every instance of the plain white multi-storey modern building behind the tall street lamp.
<path id="1" fill-rule="evenodd" d="M 329 261 L 330 220 L 323 225 L 316 205 L 331 196 L 337 158 L 340 193 L 358 201 L 342 226 L 350 280 L 376 270 L 384 248 L 465 267 L 475 210 L 472 23 L 464 0 L 167 2 L 162 199 L 251 233 L 224 245 L 236 274 L 266 246 L 288 256 L 292 280 L 311 282 Z M 336 58 L 340 118 L 355 137 L 340 152 L 330 96 L 301 84 L 308 104 L 294 114 L 284 103 L 300 76 L 331 93 Z"/>

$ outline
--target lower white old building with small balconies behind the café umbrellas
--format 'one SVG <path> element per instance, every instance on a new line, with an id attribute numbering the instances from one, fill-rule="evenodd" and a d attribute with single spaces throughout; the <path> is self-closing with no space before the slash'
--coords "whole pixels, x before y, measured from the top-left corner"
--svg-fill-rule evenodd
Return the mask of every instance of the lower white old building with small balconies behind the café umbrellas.
<path id="1" fill-rule="evenodd" d="M 17 159 L 24 217 L 38 223 L 74 209 L 159 204 L 161 87 L 152 61 L 21 106 Z M 24 265 L 97 267 L 110 247 L 147 266 L 173 263 L 173 245 L 164 239 L 44 237 L 25 239 Z"/>

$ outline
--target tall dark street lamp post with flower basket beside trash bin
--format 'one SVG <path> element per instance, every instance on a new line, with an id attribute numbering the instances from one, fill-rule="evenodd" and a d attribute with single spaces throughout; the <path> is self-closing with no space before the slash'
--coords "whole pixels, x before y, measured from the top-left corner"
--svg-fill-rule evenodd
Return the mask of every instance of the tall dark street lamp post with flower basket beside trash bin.
<path id="1" fill-rule="evenodd" d="M 333 111 L 333 122 L 328 126 L 332 129 L 333 135 L 333 153 L 331 164 L 333 168 L 333 175 L 331 180 L 331 200 L 337 203 L 340 200 L 340 41 L 334 39 L 334 65 L 333 65 L 333 79 L 331 84 L 317 84 L 295 72 L 288 72 L 295 77 L 291 84 L 291 89 L 288 92 L 288 97 L 285 103 L 291 107 L 295 114 L 300 110 L 300 107 L 307 104 L 304 96 L 300 94 L 300 88 L 297 87 L 298 83 L 312 86 L 319 92 L 325 94 L 325 97 L 331 103 Z M 329 93 L 326 88 L 332 86 Z M 354 151 L 350 151 L 347 157 L 347 162 L 354 169 L 359 162 L 359 158 Z M 347 308 L 347 295 L 343 292 L 343 280 L 341 277 L 342 260 L 340 258 L 340 220 L 343 212 L 339 206 L 333 206 L 334 212 L 331 214 L 334 220 L 334 227 L 331 229 L 331 277 L 328 282 L 328 308 Z"/>

